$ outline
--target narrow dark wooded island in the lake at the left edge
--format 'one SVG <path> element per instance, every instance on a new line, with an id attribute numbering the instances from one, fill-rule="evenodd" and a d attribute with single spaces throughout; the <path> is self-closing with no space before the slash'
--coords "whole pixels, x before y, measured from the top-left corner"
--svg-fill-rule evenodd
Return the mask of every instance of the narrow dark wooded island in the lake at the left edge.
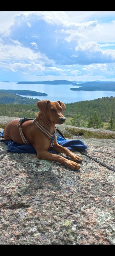
<path id="1" fill-rule="evenodd" d="M 13 94 L 30 95 L 30 96 L 47 96 L 46 93 L 38 93 L 37 91 L 29 91 L 29 90 L 0 90 L 0 93 L 13 93 Z"/>

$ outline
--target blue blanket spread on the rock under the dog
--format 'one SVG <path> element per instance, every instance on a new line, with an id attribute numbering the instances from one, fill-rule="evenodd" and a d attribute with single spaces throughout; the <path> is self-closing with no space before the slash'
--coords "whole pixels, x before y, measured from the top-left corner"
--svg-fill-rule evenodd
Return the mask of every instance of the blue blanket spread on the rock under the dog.
<path id="1" fill-rule="evenodd" d="M 1 138 L 4 138 L 4 131 L 0 133 Z M 34 147 L 31 145 L 20 145 L 14 141 L 7 141 L 2 140 L 5 144 L 7 144 L 8 151 L 12 153 L 33 153 L 37 154 Z M 66 140 L 62 138 L 58 134 L 57 143 L 61 145 L 62 147 L 66 147 L 69 150 L 77 150 L 77 151 L 84 151 L 88 146 L 84 144 L 82 140 Z M 51 148 L 48 150 L 50 153 L 57 153 L 53 151 Z"/>

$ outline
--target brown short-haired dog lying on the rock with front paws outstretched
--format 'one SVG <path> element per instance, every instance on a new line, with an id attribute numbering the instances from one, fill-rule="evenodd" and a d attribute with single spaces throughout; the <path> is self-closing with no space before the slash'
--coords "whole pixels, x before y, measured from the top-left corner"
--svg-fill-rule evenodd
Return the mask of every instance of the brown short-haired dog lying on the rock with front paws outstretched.
<path id="1" fill-rule="evenodd" d="M 60 101 L 53 102 L 43 100 L 38 101 L 37 106 L 40 111 L 37 113 L 36 121 L 42 127 L 45 127 L 47 131 L 54 134 L 55 124 L 63 124 L 66 120 L 62 114 L 65 110 L 65 104 Z M 20 136 L 18 121 L 19 118 L 16 118 L 6 125 L 4 130 L 4 139 L 14 140 L 19 144 L 24 144 Z M 63 165 L 67 165 L 72 170 L 78 170 L 80 168 L 76 162 L 81 162 L 81 158 L 74 155 L 67 148 L 60 146 L 57 143 L 57 138 L 55 135 L 52 149 L 58 153 L 66 154 L 67 157 L 72 158 L 72 161 L 62 157 L 61 155 L 52 154 L 47 151 L 51 147 L 50 139 L 40 131 L 36 123 L 33 123 L 32 120 L 27 120 L 26 122 L 22 123 L 21 127 L 29 144 L 31 144 L 37 151 L 38 158 L 59 162 Z"/>

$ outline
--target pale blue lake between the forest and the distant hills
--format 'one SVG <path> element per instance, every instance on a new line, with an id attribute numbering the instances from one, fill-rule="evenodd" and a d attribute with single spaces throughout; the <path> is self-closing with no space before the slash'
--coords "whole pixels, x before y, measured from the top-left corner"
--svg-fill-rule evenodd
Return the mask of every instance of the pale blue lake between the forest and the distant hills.
<path id="1" fill-rule="evenodd" d="M 65 103 L 72 103 L 76 101 L 87 101 L 102 97 L 115 97 L 115 91 L 72 91 L 70 88 L 79 88 L 81 85 L 72 86 L 71 84 L 17 84 L 17 82 L 0 82 L 0 89 L 12 90 L 30 90 L 40 93 L 47 93 L 47 96 L 25 96 L 42 99 L 49 99 L 50 101 L 62 101 Z"/>

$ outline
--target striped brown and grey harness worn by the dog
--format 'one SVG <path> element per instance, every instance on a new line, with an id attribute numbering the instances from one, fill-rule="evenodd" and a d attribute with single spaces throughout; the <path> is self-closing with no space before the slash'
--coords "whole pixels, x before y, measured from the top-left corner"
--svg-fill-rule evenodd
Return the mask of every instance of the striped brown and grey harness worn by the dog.
<path id="1" fill-rule="evenodd" d="M 38 123 L 37 119 L 32 119 L 32 118 L 26 118 L 26 117 L 23 117 L 21 118 L 18 122 L 18 128 L 19 128 L 19 132 L 20 132 L 20 136 L 23 140 L 23 143 L 28 145 L 30 144 L 29 141 L 25 138 L 24 134 L 23 134 L 23 131 L 22 131 L 22 127 L 21 127 L 21 124 L 24 122 L 24 121 L 27 121 L 27 120 L 34 120 L 33 123 L 35 123 L 39 129 L 39 131 L 41 131 L 51 142 L 51 147 L 54 146 L 54 140 L 55 140 L 55 136 L 58 138 L 58 135 L 56 134 L 56 126 L 55 126 L 55 132 L 54 134 L 52 134 L 47 128 L 45 128 L 44 126 L 42 126 L 41 124 Z"/>

